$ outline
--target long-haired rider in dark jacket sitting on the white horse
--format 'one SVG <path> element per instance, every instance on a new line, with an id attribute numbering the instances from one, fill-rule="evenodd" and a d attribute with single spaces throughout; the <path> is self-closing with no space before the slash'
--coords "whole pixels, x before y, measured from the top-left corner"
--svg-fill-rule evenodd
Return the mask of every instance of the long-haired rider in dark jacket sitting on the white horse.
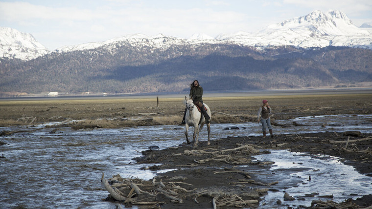
<path id="1" fill-rule="evenodd" d="M 204 118 L 206 119 L 206 123 L 209 124 L 210 117 L 203 104 L 203 88 L 202 86 L 200 86 L 198 80 L 195 80 L 194 82 L 192 82 L 192 84 L 190 84 L 190 94 L 188 95 L 188 97 L 192 98 L 192 101 L 194 102 L 194 104 L 200 108 L 200 110 L 202 111 L 204 115 Z M 186 117 L 186 108 L 185 108 L 184 118 L 182 119 L 181 124 L 186 124 L 185 117 Z"/>

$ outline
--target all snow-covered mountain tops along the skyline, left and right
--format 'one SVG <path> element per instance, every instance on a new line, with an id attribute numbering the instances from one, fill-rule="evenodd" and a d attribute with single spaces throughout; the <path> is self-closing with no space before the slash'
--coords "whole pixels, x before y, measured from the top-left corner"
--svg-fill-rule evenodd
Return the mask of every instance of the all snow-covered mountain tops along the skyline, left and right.
<path id="1" fill-rule="evenodd" d="M 372 34 L 366 29 L 353 25 L 349 18 L 340 11 L 323 13 L 317 10 L 306 16 L 269 25 L 256 33 L 220 34 L 215 38 L 205 34 L 194 34 L 189 39 L 163 34 L 151 37 L 143 34 L 130 34 L 105 42 L 64 46 L 50 53 L 65 53 L 99 47 L 115 50 L 116 47 L 125 45 L 167 49 L 176 45 L 192 46 L 202 43 L 239 44 L 258 48 L 287 45 L 302 48 L 347 46 L 372 49 Z M 30 60 L 47 52 L 47 49 L 36 42 L 31 35 L 10 28 L 1 28 L 0 44 L 0 57 Z"/>

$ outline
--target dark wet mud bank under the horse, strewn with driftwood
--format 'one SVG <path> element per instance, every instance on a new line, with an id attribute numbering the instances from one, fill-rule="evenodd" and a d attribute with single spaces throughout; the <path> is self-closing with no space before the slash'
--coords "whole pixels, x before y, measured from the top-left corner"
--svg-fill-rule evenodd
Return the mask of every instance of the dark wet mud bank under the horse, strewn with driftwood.
<path id="1" fill-rule="evenodd" d="M 356 134 L 356 135 L 355 135 Z M 349 139 L 348 145 L 346 142 Z M 343 163 L 355 167 L 355 169 L 367 176 L 372 176 L 372 150 L 369 148 L 372 144 L 372 134 L 360 133 L 307 133 L 293 135 L 276 135 L 273 139 L 270 137 L 262 138 L 252 137 L 228 137 L 211 142 L 207 146 L 206 142 L 200 142 L 197 147 L 186 144 L 167 148 L 163 150 L 148 149 L 142 151 L 143 157 L 136 158 L 138 163 L 161 164 L 153 167 L 143 167 L 143 169 L 163 170 L 172 169 L 162 173 L 155 179 L 163 183 L 181 179 L 188 186 L 187 190 L 196 189 L 194 195 L 179 202 L 163 201 L 161 208 L 211 208 L 212 199 L 220 197 L 220 205 L 223 199 L 229 199 L 232 195 L 237 195 L 247 200 L 257 200 L 256 204 L 250 204 L 243 207 L 255 208 L 259 206 L 259 201 L 264 198 L 265 192 L 262 189 L 270 191 L 285 191 L 282 186 L 276 186 L 281 181 L 275 179 L 275 173 L 270 173 L 268 167 L 273 162 L 255 161 L 255 155 L 270 152 L 272 149 L 289 149 L 291 151 L 325 154 L 340 157 Z M 241 148 L 239 148 L 241 147 Z M 239 165 L 248 165 L 240 167 Z M 294 168 L 295 169 L 295 168 Z M 259 170 L 259 172 L 257 172 Z M 294 170 L 295 171 L 295 170 Z M 340 173 L 340 175 L 342 175 Z M 268 177 L 270 176 L 270 177 Z M 311 177 L 309 176 L 309 180 Z M 295 187 L 299 182 L 292 182 L 286 187 Z M 199 193 L 205 191 L 204 193 Z M 198 194 L 198 195 L 197 195 Z M 278 208 L 287 206 L 289 208 L 322 208 L 314 202 L 314 205 L 296 206 L 289 202 L 291 194 L 283 193 L 284 200 L 288 202 L 279 202 Z M 286 196 L 285 196 L 286 195 Z M 330 195 L 330 194 L 328 194 Z M 314 191 L 302 198 L 317 200 L 321 194 Z M 288 199 L 289 198 L 289 199 Z M 331 198 L 331 197 L 330 197 Z M 165 204 L 164 204 L 165 203 Z M 372 205 L 372 195 L 366 194 L 358 200 L 345 200 L 344 203 L 334 205 L 334 208 L 350 205 L 349 208 L 364 208 Z M 230 207 L 240 207 L 241 205 L 229 205 Z M 263 207 L 264 206 L 260 206 Z"/>

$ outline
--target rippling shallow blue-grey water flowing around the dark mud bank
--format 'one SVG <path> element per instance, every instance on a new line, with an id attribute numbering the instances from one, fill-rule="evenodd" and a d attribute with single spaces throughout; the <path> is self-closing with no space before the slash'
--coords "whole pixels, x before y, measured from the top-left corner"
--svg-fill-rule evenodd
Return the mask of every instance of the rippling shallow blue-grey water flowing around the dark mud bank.
<path id="1" fill-rule="evenodd" d="M 372 129 L 372 115 L 302 117 L 277 122 L 289 125 L 294 121 L 302 126 L 274 126 L 274 132 L 291 134 L 358 130 L 370 133 Z M 324 124 L 326 126 L 322 127 Z M 0 127 L 0 131 L 32 130 L 42 126 Z M 227 129 L 232 126 L 239 129 Z M 51 133 L 52 130 L 44 128 L 0 137 L 0 142 L 6 143 L 0 146 L 0 208 L 114 209 L 115 204 L 102 201 L 108 195 L 100 184 L 102 173 L 105 178 L 120 174 L 122 177 L 151 179 L 156 172 L 139 168 L 152 165 L 137 165 L 132 159 L 140 157 L 140 152 L 149 146 L 163 149 L 186 141 L 184 127 L 177 125 L 86 130 L 60 128 Z M 206 132 L 204 128 L 201 141 L 206 140 Z M 257 123 L 211 124 L 211 140 L 257 135 L 261 135 L 261 126 Z M 277 207 L 277 199 L 289 206 L 311 204 L 308 198 L 284 202 L 283 191 L 296 199 L 312 192 L 333 195 L 335 202 L 350 197 L 355 199 L 372 191 L 371 177 L 359 174 L 335 157 L 311 156 L 287 150 L 271 150 L 271 154 L 255 157 L 257 160 L 275 162 L 267 172 L 275 172 L 273 182 L 280 179 L 278 187 L 283 188 L 264 196 L 260 203 L 262 208 Z M 295 172 L 293 168 L 296 168 Z M 309 175 L 311 181 L 308 181 Z M 297 185 L 286 188 L 289 182 L 297 182 Z"/>

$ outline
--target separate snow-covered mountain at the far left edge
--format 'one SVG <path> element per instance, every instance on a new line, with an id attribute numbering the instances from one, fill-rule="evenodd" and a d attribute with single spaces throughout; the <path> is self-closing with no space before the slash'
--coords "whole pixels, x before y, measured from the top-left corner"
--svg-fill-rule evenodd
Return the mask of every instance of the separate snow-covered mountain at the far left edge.
<path id="1" fill-rule="evenodd" d="M 49 50 L 37 42 L 31 34 L 0 27 L 0 58 L 32 60 L 48 52 Z"/>

